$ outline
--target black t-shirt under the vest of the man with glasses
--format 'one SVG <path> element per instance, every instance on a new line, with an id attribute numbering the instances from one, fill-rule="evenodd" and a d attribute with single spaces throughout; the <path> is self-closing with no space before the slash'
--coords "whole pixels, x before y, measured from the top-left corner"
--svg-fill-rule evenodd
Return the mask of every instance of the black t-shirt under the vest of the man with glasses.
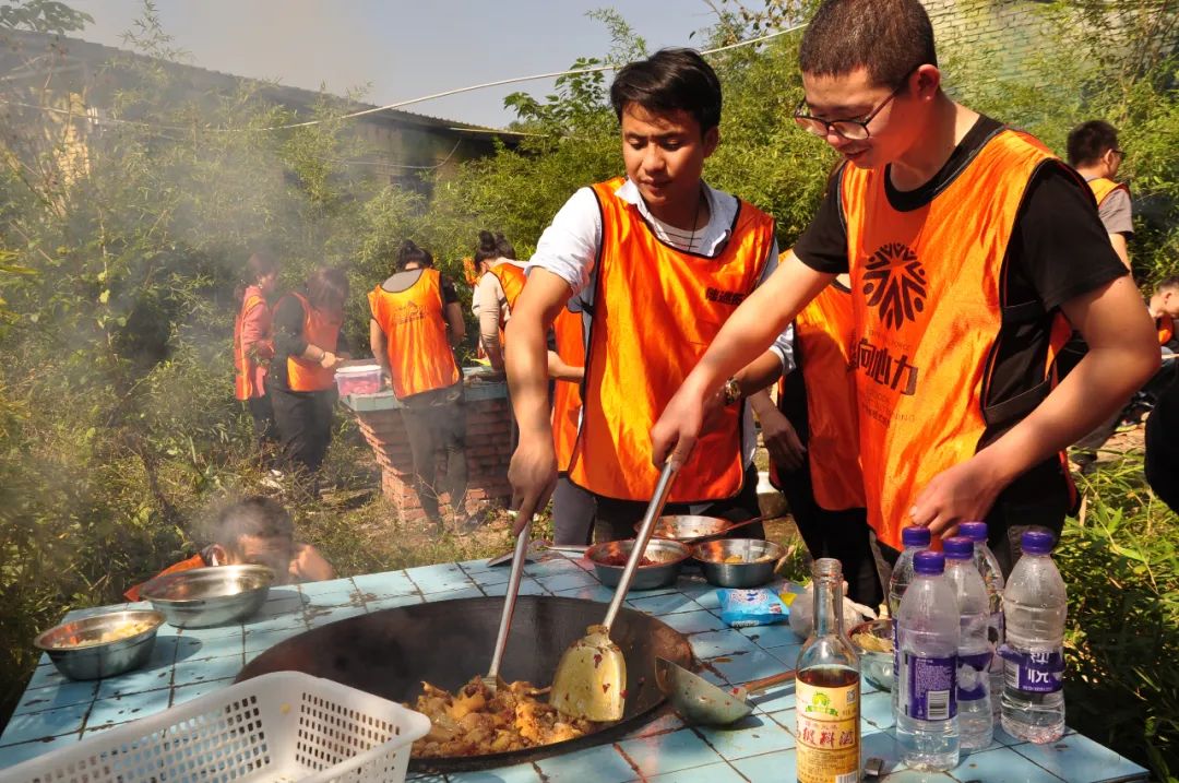
<path id="1" fill-rule="evenodd" d="M 946 165 L 916 190 L 897 190 L 885 170 L 889 204 L 897 211 L 921 209 L 946 190 L 1002 130 L 999 121 L 980 117 Z M 848 231 L 838 186 L 842 171 L 832 177 L 815 219 L 793 246 L 804 264 L 830 274 L 848 271 Z M 1005 302 L 1009 309 L 1005 309 L 1000 327 L 987 407 L 1010 402 L 1043 382 L 1052 322 L 1062 304 L 1126 274 L 1098 217 L 1092 191 L 1063 163 L 1042 165 L 1032 176 L 1015 217 L 1003 270 Z M 1010 315 L 1020 309 L 1023 314 L 1019 317 Z M 996 440 L 1015 421 L 989 427 L 980 448 Z M 1049 487 L 1059 492 L 1048 492 Z M 1063 499 L 1063 469 L 1053 458 L 1013 482 L 1000 501 L 1014 507 L 1014 516 L 1026 519 L 1035 509 L 1023 514 L 1019 508 L 1055 508 Z"/>

